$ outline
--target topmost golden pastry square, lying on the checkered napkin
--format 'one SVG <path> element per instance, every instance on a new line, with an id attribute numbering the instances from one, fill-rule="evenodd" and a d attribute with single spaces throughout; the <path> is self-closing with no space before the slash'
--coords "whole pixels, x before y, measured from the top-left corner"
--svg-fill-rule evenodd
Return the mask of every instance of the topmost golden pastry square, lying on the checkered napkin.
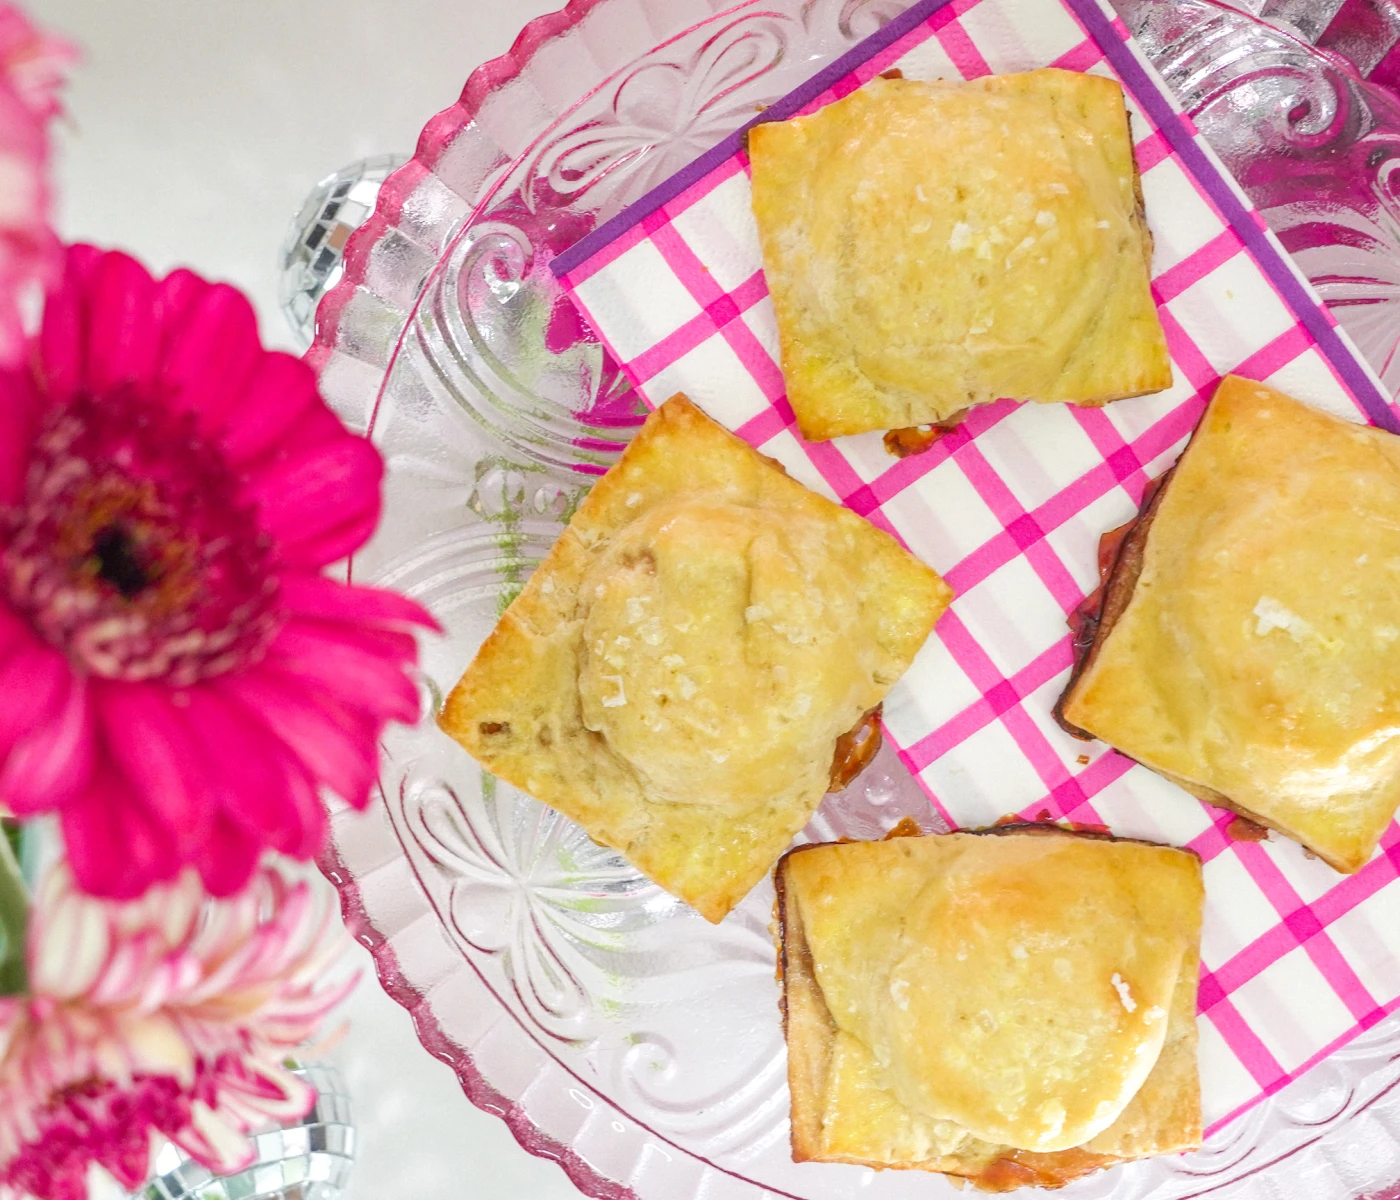
<path id="1" fill-rule="evenodd" d="M 804 437 L 1170 386 L 1116 81 L 875 78 L 749 155 Z"/>

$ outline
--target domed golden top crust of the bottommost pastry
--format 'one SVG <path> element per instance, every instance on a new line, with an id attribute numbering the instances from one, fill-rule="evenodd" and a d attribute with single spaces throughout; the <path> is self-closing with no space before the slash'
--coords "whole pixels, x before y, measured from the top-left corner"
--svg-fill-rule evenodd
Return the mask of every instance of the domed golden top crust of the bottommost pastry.
<path id="1" fill-rule="evenodd" d="M 843 1059 L 946 1140 L 1029 1151 L 1107 1130 L 1194 969 L 1200 860 L 1135 842 L 948 835 L 787 860 Z M 851 1049 L 841 1054 L 841 1040 Z M 840 1080 L 836 1081 L 840 1084 Z M 840 1127 L 858 1112 L 829 1112 Z"/>

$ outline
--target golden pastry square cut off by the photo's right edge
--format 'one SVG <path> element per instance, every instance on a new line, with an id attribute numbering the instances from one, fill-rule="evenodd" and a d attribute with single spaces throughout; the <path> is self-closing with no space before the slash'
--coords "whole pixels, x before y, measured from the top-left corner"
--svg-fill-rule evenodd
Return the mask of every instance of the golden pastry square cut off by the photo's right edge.
<path id="1" fill-rule="evenodd" d="M 1065 721 L 1358 870 L 1400 804 L 1400 438 L 1228 377 L 1117 556 Z"/>

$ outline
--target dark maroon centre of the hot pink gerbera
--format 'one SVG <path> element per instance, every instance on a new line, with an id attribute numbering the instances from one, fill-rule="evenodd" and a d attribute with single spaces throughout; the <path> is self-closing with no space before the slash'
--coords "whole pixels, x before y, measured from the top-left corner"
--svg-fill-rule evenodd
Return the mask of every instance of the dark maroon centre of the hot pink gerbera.
<path id="1" fill-rule="evenodd" d="M 188 686 L 277 632 L 273 547 L 224 456 L 130 389 L 48 416 L 0 535 L 14 608 L 94 675 Z"/>

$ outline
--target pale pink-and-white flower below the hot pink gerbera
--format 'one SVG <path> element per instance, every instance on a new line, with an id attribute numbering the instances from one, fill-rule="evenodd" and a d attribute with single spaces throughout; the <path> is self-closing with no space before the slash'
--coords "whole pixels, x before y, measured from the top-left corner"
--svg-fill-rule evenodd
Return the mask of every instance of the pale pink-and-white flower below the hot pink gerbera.
<path id="1" fill-rule="evenodd" d="M 55 868 L 29 914 L 29 993 L 0 997 L 0 1200 L 83 1200 L 92 1162 L 139 1187 L 153 1134 L 218 1173 L 246 1166 L 248 1130 L 315 1102 L 283 1063 L 354 983 L 326 982 L 337 933 L 274 867 L 230 900 L 190 871 L 127 903 Z"/>

